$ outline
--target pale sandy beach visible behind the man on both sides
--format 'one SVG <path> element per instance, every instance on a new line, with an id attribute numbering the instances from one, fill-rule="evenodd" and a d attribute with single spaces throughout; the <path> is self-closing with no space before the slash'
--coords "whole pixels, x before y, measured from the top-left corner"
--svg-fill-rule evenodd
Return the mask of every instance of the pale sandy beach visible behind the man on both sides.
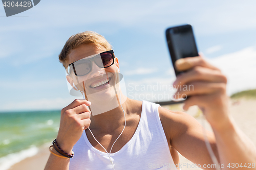
<path id="1" fill-rule="evenodd" d="M 231 103 L 231 114 L 236 121 L 237 125 L 241 128 L 241 130 L 252 140 L 252 142 L 256 145 L 256 100 L 232 100 Z M 170 110 L 182 110 L 182 104 L 179 105 L 170 105 L 163 106 Z M 202 123 L 202 113 L 198 109 L 197 106 L 190 107 L 188 114 L 194 116 L 199 123 Z M 205 121 L 205 120 L 204 120 Z M 211 131 L 211 128 L 207 122 L 205 122 L 206 129 Z M 49 143 L 50 144 L 50 143 Z M 37 155 L 33 157 L 29 157 L 14 164 L 9 170 L 41 170 L 44 169 L 47 159 L 50 155 L 48 151 L 48 145 L 44 145 L 39 149 Z M 180 155 L 180 163 L 186 163 L 193 165 L 192 162 L 184 158 Z M 193 169 L 198 170 L 201 168 L 183 168 L 183 169 Z"/>

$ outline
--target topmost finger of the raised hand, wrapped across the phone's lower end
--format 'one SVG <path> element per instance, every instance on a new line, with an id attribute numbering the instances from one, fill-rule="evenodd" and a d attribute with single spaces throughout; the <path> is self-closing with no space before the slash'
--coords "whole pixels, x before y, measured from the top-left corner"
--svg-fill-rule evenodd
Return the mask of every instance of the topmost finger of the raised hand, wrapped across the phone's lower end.
<path id="1" fill-rule="evenodd" d="M 219 70 L 219 68 L 209 64 L 200 54 L 197 57 L 186 57 L 186 58 L 181 58 L 175 62 L 175 67 L 179 71 L 185 71 L 188 69 L 191 69 L 195 66 L 201 66 L 201 67 L 206 67 L 214 70 Z"/>

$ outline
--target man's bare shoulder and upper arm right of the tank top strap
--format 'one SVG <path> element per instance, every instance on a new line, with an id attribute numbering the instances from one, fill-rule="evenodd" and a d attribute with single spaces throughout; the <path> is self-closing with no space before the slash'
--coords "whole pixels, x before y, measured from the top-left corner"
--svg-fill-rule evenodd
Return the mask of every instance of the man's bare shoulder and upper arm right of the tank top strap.
<path id="1" fill-rule="evenodd" d="M 170 144 L 181 155 L 197 165 L 200 164 L 201 167 L 204 164 L 214 164 L 204 142 L 203 127 L 194 117 L 184 112 L 170 111 L 162 107 L 159 107 L 159 116 L 164 130 L 169 136 Z M 206 132 L 211 148 L 219 160 L 214 133 Z M 186 169 L 182 166 L 180 168 Z"/>

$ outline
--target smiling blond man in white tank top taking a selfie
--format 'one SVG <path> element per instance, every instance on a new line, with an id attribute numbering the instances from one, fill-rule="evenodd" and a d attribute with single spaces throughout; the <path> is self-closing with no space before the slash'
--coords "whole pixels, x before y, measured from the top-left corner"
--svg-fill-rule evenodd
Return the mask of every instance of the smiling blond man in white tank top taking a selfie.
<path id="1" fill-rule="evenodd" d="M 104 37 L 90 31 L 73 35 L 63 47 L 59 60 L 67 69 L 67 80 L 87 100 L 75 100 L 61 110 L 57 144 L 54 143 L 45 169 L 179 169 L 175 167 L 179 163 L 177 151 L 203 169 L 215 169 L 203 167 L 213 162 L 197 120 L 154 103 L 125 99 L 116 92 L 115 84 L 115 92 L 111 90 L 111 82 L 117 80 L 113 75 L 120 69 L 111 50 Z M 110 58 L 103 59 L 104 54 Z M 96 61 L 97 56 L 104 64 Z M 177 60 L 176 67 L 187 71 L 177 77 L 174 85 L 194 86 L 193 91 L 178 89 L 177 94 L 190 96 L 183 108 L 198 105 L 205 114 L 214 131 L 207 132 L 207 137 L 218 161 L 225 165 L 223 169 L 228 169 L 229 163 L 255 163 L 254 145 L 230 116 L 226 77 L 201 56 Z M 99 99 L 97 89 L 104 99 Z M 95 94 L 90 100 L 89 91 Z M 96 110 L 112 106 L 115 97 L 117 107 L 97 115 L 91 109 L 91 116 L 87 106 L 96 105 Z M 69 158 L 72 149 L 75 155 Z"/>

